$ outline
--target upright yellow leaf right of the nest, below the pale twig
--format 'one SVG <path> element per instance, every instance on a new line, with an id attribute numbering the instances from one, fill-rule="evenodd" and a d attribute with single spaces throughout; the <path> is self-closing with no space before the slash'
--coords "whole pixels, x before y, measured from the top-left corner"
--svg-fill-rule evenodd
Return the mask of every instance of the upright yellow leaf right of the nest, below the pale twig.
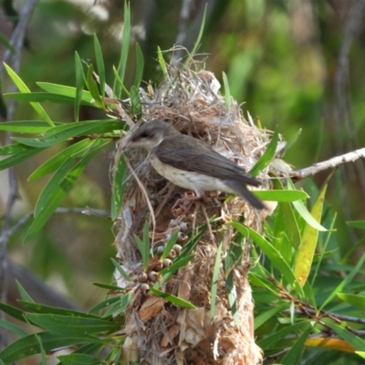
<path id="1" fill-rule="evenodd" d="M 331 175 L 329 175 L 330 178 Z M 323 203 L 325 201 L 325 195 L 327 191 L 329 178 L 324 183 L 322 189 L 318 194 L 316 203 L 314 203 L 311 215 L 320 223 L 322 217 Z M 297 281 L 301 287 L 304 287 L 308 280 L 310 269 L 313 263 L 313 257 L 316 252 L 316 246 L 318 242 L 318 230 L 313 228 L 310 224 L 306 224 L 302 235 L 302 244 L 299 246 L 296 254 L 294 264 L 294 274 L 297 277 Z"/>

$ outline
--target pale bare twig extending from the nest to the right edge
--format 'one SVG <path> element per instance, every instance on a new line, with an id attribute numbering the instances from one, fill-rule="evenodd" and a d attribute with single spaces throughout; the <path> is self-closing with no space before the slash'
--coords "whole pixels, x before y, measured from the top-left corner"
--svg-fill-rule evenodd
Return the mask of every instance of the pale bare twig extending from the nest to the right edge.
<path id="1" fill-rule="evenodd" d="M 364 158 L 365 158 L 365 148 L 362 148 L 360 150 L 345 153 L 341 156 L 332 157 L 327 161 L 314 163 L 312 166 L 306 167 L 305 169 L 290 172 L 289 176 L 297 180 L 300 180 L 308 176 L 313 176 L 316 173 L 321 172 L 323 170 L 334 169 L 335 167 L 343 163 L 355 162 L 356 160 Z"/>

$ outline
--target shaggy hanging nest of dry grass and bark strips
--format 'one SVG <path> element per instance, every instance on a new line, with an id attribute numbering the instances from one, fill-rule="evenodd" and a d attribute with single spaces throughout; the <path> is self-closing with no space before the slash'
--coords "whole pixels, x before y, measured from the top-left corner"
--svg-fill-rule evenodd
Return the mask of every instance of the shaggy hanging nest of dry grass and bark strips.
<path id="1" fill-rule="evenodd" d="M 211 145 L 249 171 L 266 150 L 271 133 L 247 122 L 234 99 L 224 99 L 214 74 L 169 68 L 158 89 L 140 89 L 143 120 L 164 120 L 184 134 Z M 229 108 L 227 104 L 230 104 Z M 145 151 L 128 153 L 130 173 L 123 195 L 118 220 L 116 246 L 120 266 L 132 278 L 127 281 L 116 273 L 119 287 L 130 291 L 123 329 L 127 339 L 123 345 L 124 361 L 143 364 L 259 364 L 262 351 L 255 345 L 253 300 L 247 282 L 250 267 L 250 245 L 243 247 L 241 261 L 227 273 L 224 257 L 231 245 L 238 245 L 235 232 L 227 221 L 243 221 L 261 231 L 268 210 L 253 209 L 240 197 L 226 201 L 227 194 L 209 192 L 193 203 L 187 214 L 172 205 L 186 192 L 168 182 L 151 167 Z M 267 172 L 258 179 L 269 189 Z M 136 182 L 138 176 L 139 183 Z M 268 204 L 266 204 L 268 205 Z M 133 235 L 142 236 L 149 222 L 150 252 L 147 270 L 143 270 L 141 253 Z M 203 227 L 206 227 L 203 230 Z M 174 232 L 177 243 L 169 256 L 161 260 L 166 243 Z M 151 293 L 150 288 L 162 280 L 160 271 L 172 265 L 187 242 L 200 234 L 194 246 L 193 260 L 174 273 L 159 290 L 190 302 L 196 309 L 183 308 Z M 216 264 L 218 247 L 221 261 Z M 174 261 L 175 260 L 175 261 Z M 216 296 L 212 317 L 214 267 Z M 235 318 L 227 295 L 226 276 L 232 274 L 235 287 Z"/>

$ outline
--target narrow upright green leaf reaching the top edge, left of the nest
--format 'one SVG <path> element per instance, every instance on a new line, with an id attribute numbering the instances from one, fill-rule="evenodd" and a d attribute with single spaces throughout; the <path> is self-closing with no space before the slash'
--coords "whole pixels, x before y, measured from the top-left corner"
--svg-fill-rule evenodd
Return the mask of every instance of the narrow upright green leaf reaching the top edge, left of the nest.
<path id="1" fill-rule="evenodd" d="M 127 66 L 128 52 L 130 49 L 130 5 L 128 2 L 124 2 L 124 23 L 123 23 L 123 36 L 121 37 L 121 51 L 120 51 L 120 62 L 118 64 L 118 75 L 120 82 L 124 84 L 124 74 Z M 114 83 L 114 95 L 120 99 L 120 85 Z"/>

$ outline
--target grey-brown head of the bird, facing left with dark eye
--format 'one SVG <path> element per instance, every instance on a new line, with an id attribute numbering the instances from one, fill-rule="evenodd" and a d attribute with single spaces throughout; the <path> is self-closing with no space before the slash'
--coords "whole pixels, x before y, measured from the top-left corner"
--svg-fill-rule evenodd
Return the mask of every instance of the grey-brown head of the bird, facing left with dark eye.
<path id="1" fill-rule="evenodd" d="M 130 130 L 122 142 L 121 151 L 142 148 L 151 151 L 158 146 L 163 139 L 173 133 L 179 133 L 171 124 L 162 120 L 151 120 L 141 123 Z"/>

